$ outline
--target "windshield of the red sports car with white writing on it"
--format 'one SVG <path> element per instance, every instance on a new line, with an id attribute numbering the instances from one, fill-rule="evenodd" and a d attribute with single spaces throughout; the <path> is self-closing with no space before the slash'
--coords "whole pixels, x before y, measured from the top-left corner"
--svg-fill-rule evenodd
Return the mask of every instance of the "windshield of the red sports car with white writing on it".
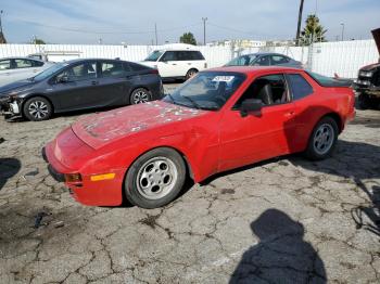
<path id="1" fill-rule="evenodd" d="M 191 108 L 218 111 L 244 79 L 245 75 L 241 73 L 202 72 L 163 101 Z"/>

